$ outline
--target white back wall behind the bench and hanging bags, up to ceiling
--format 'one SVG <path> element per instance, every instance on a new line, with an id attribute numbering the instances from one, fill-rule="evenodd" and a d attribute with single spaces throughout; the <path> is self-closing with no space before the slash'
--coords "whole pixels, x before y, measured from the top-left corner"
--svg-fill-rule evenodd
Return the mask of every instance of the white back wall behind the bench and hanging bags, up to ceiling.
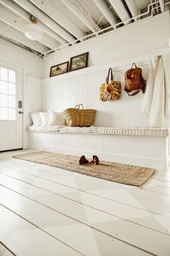
<path id="1" fill-rule="evenodd" d="M 50 66 L 68 61 L 71 56 L 89 51 L 89 66 L 43 80 L 42 109 L 63 111 L 83 103 L 85 108 L 97 109 L 96 126 L 104 127 L 148 127 L 148 116 L 140 108 L 143 93 L 129 97 L 124 88 L 125 70 L 133 61 L 148 73 L 151 56 L 169 52 L 169 13 L 141 20 L 121 27 L 111 33 L 87 40 L 76 46 L 65 48 L 44 61 L 44 76 L 48 77 Z M 167 63 L 169 55 L 166 54 Z M 114 67 L 115 80 L 122 82 L 122 99 L 113 102 L 99 101 L 99 87 L 107 76 L 107 69 Z M 163 127 L 169 126 L 166 118 Z"/>

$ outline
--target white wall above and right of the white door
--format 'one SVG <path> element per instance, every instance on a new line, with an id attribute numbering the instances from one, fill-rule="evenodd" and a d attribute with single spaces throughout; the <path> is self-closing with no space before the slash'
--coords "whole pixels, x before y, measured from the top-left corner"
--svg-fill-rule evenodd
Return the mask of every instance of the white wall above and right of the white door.
<path id="1" fill-rule="evenodd" d="M 28 113 L 41 109 L 42 59 L 6 40 L 0 39 L 0 61 L 22 68 L 23 74 L 23 146 L 27 148 Z M 32 77 L 28 79 L 27 77 Z M 35 95 L 37 97 L 35 97 Z"/>

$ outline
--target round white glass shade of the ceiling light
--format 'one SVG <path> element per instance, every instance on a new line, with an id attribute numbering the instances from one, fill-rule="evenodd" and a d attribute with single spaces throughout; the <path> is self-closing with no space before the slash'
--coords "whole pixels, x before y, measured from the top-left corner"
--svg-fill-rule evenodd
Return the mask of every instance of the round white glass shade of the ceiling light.
<path id="1" fill-rule="evenodd" d="M 42 38 L 42 28 L 32 23 L 24 27 L 24 35 L 30 40 L 40 40 Z"/>

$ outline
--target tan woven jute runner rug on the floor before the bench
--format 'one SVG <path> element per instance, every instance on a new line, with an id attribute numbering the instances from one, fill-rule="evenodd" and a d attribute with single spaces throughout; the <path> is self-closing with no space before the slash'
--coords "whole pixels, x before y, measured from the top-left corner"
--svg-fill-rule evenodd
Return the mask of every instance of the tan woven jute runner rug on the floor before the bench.
<path id="1" fill-rule="evenodd" d="M 100 161 L 98 166 L 94 163 L 87 163 L 80 166 L 79 157 L 77 156 L 50 153 L 46 151 L 14 155 L 13 157 L 137 187 L 140 187 L 148 181 L 155 172 L 155 169 L 153 168 L 107 161 Z"/>

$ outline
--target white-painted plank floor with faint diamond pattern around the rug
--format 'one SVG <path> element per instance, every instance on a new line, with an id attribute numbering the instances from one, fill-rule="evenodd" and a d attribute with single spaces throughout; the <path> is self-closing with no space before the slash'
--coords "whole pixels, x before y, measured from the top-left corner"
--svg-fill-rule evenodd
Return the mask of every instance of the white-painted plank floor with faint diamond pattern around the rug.
<path id="1" fill-rule="evenodd" d="M 142 188 L 0 153 L 0 256 L 170 255 L 170 171 Z"/>

